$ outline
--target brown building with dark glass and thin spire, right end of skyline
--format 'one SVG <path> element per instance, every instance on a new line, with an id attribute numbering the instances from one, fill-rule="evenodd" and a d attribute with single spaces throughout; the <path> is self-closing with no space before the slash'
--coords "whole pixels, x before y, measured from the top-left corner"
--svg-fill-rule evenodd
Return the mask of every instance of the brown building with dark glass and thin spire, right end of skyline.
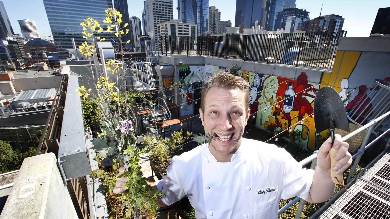
<path id="1" fill-rule="evenodd" d="M 329 14 L 311 19 L 308 24 L 307 32 L 338 32 L 342 31 L 344 18 L 336 14 Z"/>

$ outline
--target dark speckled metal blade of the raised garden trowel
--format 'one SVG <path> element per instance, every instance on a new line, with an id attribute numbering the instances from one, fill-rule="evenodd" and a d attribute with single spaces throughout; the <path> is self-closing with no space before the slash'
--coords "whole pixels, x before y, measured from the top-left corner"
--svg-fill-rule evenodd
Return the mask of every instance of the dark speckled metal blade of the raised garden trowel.
<path id="1" fill-rule="evenodd" d="M 319 89 L 314 99 L 314 125 L 316 132 L 330 128 L 333 119 L 335 128 L 349 132 L 347 113 L 340 95 L 331 87 Z"/>

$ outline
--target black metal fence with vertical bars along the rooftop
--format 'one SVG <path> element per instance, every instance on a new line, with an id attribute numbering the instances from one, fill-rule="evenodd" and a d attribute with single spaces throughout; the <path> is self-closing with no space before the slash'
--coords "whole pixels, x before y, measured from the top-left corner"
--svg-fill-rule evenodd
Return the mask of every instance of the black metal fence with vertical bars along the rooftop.
<path id="1" fill-rule="evenodd" d="M 159 50 L 162 55 L 206 55 L 331 69 L 340 39 L 346 34 L 341 31 L 199 37 L 165 35 L 160 37 Z"/>

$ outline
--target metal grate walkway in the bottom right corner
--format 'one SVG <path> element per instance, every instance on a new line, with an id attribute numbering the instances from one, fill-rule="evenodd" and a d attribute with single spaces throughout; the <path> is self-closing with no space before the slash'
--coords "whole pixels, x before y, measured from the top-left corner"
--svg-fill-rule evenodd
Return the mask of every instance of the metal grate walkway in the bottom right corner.
<path id="1" fill-rule="evenodd" d="M 390 219 L 389 158 L 386 152 L 318 218 Z"/>

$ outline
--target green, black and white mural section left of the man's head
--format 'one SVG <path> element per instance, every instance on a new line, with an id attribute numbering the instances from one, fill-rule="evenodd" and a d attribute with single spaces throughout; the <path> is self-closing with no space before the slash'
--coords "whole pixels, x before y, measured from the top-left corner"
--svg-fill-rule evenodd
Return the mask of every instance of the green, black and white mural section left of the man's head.
<path id="1" fill-rule="evenodd" d="M 199 87 L 203 85 L 202 81 L 205 78 L 203 69 L 203 65 L 179 67 L 179 72 L 177 73 L 179 82 L 184 84 L 178 95 L 178 102 L 183 106 L 180 109 L 181 116 L 198 114 L 198 112 L 194 112 L 194 92 L 199 93 Z"/>

